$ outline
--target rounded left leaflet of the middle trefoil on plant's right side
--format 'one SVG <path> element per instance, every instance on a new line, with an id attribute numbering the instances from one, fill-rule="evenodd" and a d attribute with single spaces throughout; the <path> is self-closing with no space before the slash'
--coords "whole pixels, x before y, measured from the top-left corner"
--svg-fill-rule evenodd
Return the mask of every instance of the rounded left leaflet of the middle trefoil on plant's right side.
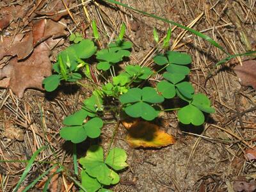
<path id="1" fill-rule="evenodd" d="M 166 99 L 172 99 L 176 95 L 175 86 L 168 81 L 160 81 L 156 87 L 157 91 Z"/>

